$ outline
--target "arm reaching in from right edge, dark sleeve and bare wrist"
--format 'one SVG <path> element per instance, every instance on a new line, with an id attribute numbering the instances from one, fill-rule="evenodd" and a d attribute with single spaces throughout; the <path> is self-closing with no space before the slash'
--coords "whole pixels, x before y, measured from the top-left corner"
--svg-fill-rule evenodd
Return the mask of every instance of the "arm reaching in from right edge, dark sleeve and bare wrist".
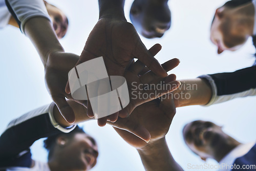
<path id="1" fill-rule="evenodd" d="M 209 106 L 234 98 L 256 95 L 256 66 L 229 73 L 202 75 L 180 80 L 181 86 L 172 92 L 176 107 Z"/>

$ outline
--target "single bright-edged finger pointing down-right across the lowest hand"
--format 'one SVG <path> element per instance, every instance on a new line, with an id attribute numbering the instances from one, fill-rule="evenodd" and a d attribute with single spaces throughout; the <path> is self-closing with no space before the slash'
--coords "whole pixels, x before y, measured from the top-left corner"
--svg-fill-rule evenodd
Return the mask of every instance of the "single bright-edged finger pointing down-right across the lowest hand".
<path id="1" fill-rule="evenodd" d="M 112 126 L 121 129 L 121 130 L 126 130 L 134 135 L 136 135 L 137 137 L 141 138 L 143 141 L 145 142 L 149 142 L 151 135 L 150 132 L 148 132 L 145 127 L 143 127 L 142 125 L 140 125 L 138 122 L 134 122 L 132 120 L 130 120 L 129 118 L 119 118 L 116 122 L 110 123 Z M 115 129 L 116 130 L 116 129 Z M 131 136 L 133 136 L 131 134 Z M 129 138 L 127 138 L 127 140 L 129 141 Z M 125 141 L 127 141 L 125 140 Z"/>

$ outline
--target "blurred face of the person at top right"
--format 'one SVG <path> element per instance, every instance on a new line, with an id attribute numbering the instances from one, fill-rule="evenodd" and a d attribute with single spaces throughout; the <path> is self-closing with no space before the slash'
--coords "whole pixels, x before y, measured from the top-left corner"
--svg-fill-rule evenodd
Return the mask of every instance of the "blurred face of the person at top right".
<path id="1" fill-rule="evenodd" d="M 238 23 L 227 13 L 225 7 L 216 10 L 215 19 L 210 29 L 210 40 L 218 47 L 218 54 L 225 50 L 236 51 L 240 49 L 248 39 L 241 31 Z"/>

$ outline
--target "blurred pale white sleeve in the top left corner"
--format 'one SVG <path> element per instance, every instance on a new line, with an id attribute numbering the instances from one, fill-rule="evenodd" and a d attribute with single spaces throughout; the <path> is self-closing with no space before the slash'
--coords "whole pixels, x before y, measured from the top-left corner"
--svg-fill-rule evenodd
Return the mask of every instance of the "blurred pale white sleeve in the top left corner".
<path id="1" fill-rule="evenodd" d="M 8 25 L 10 18 L 11 13 L 8 11 L 5 1 L 0 0 L 0 29 Z"/>

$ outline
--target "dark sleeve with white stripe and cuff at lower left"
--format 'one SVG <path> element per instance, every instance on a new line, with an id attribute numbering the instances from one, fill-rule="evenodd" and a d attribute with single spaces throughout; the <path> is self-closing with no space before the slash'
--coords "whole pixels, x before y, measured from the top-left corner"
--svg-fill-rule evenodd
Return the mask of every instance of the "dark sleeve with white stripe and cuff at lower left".
<path id="1" fill-rule="evenodd" d="M 0 168 L 31 166 L 30 146 L 40 138 L 60 132 L 51 121 L 53 106 L 54 103 L 42 106 L 9 123 L 0 137 Z"/>

